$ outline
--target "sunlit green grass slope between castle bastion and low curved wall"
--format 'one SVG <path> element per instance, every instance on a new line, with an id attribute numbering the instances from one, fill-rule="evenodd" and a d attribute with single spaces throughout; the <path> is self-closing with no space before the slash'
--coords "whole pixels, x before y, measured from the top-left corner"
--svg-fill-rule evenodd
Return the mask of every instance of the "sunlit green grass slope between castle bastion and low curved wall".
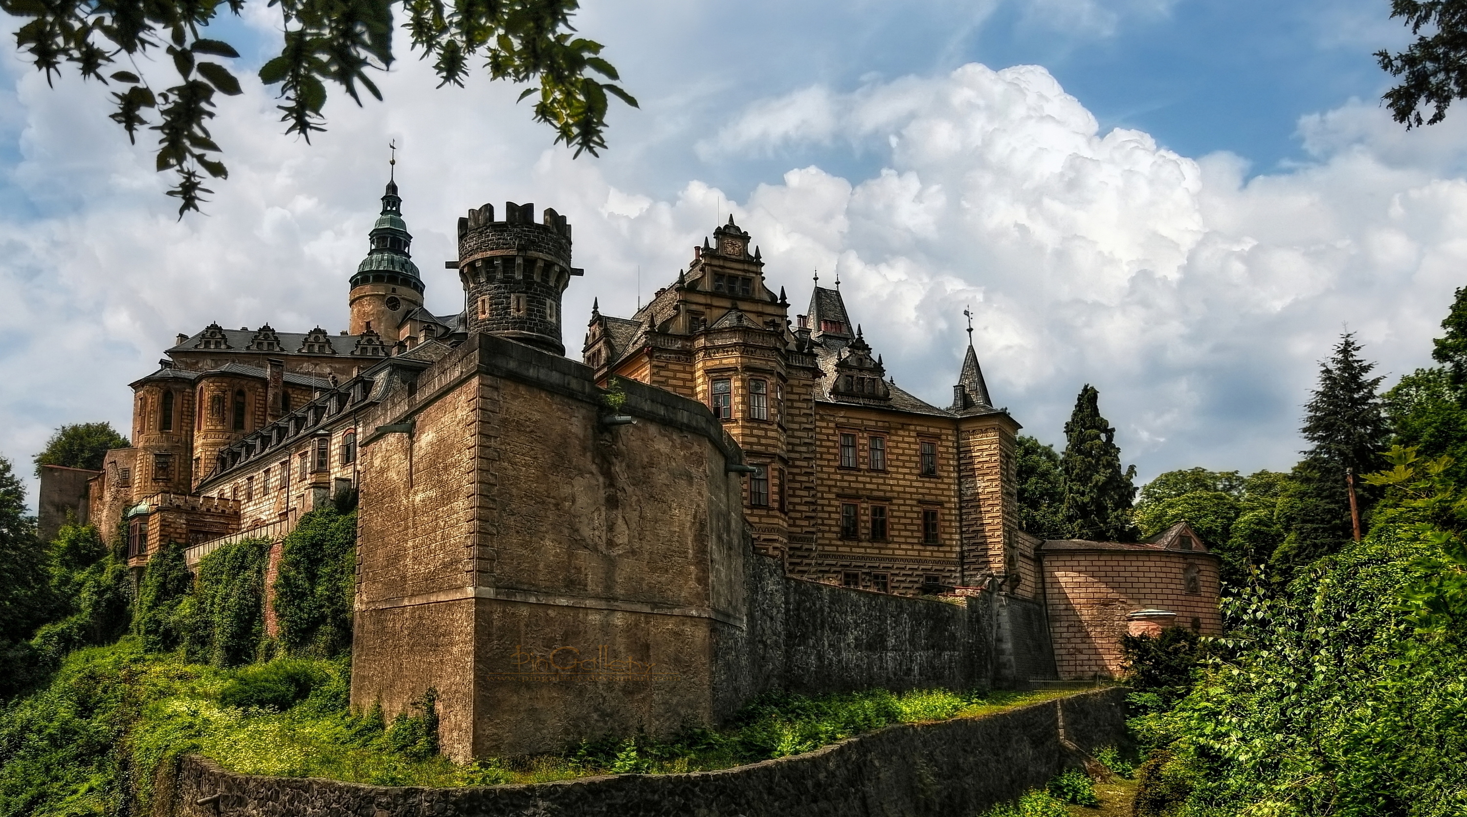
<path id="1" fill-rule="evenodd" d="M 797 755 L 892 723 L 976 717 L 1065 695 L 942 689 L 766 694 L 729 725 L 604 736 L 560 752 L 455 764 L 428 710 L 386 722 L 348 707 L 348 660 L 217 669 L 145 654 L 136 640 L 72 653 L 51 682 L 0 707 L 0 817 L 148 811 L 154 770 L 183 754 L 248 774 L 395 786 L 541 783 L 591 774 L 729 769 Z"/>

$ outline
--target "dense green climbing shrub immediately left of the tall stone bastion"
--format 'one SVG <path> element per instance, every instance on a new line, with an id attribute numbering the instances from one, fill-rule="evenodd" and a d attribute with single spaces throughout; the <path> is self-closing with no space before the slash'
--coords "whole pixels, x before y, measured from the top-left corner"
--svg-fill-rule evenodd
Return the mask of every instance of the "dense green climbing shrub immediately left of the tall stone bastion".
<path id="1" fill-rule="evenodd" d="M 280 642 L 301 656 L 339 656 L 352 645 L 356 513 L 312 510 L 285 538 L 274 582 Z"/>

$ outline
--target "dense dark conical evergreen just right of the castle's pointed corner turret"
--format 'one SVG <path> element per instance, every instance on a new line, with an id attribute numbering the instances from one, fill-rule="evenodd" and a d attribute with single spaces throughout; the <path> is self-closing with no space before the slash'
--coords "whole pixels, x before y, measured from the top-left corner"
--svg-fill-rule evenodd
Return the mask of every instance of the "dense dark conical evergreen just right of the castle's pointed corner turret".
<path id="1" fill-rule="evenodd" d="M 1072 538 L 1133 541 L 1131 502 L 1135 466 L 1121 468 L 1115 428 L 1100 417 L 1100 392 L 1089 383 L 1065 424 L 1065 525 Z"/>

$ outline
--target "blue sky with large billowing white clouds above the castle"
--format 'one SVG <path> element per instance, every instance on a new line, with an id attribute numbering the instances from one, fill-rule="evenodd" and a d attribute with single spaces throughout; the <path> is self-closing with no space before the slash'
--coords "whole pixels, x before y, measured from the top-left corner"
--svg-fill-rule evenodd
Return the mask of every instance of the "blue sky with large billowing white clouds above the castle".
<path id="1" fill-rule="evenodd" d="M 971 307 L 993 399 L 1025 433 L 1062 446 L 1090 383 L 1140 481 L 1287 469 L 1338 336 L 1394 383 L 1430 365 L 1467 283 L 1467 120 L 1391 122 L 1372 53 L 1407 32 L 1388 9 L 587 0 L 577 28 L 641 106 L 613 107 L 601 157 L 572 158 L 519 88 L 434 89 L 405 37 L 384 103 L 334 94 L 326 133 L 285 136 L 252 78 L 279 19 L 249 0 L 211 26 L 242 53 L 245 94 L 213 120 L 230 176 L 182 220 L 147 136 L 129 145 L 107 119 L 109 89 L 75 73 L 48 88 L 4 18 L 0 455 L 29 478 L 60 424 L 126 431 L 128 383 L 176 333 L 345 329 L 396 141 L 440 314 L 462 308 L 440 263 L 456 219 L 483 202 L 574 224 L 572 356 L 593 298 L 629 315 L 732 214 L 795 305 L 816 270 L 839 274 L 888 371 L 933 403 L 951 400 Z"/>

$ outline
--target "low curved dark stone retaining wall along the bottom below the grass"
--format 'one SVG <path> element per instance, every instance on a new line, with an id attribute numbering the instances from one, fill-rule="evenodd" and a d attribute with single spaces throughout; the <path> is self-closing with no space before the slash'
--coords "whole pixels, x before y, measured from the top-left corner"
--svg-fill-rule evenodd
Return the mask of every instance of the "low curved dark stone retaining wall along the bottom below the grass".
<path id="1" fill-rule="evenodd" d="M 524 786 L 257 777 L 189 757 L 175 785 L 161 788 L 169 795 L 156 802 L 154 817 L 968 817 L 1080 766 L 1099 747 L 1122 744 L 1124 701 L 1124 689 L 1100 689 L 986 717 L 895 725 L 720 772 Z"/>

